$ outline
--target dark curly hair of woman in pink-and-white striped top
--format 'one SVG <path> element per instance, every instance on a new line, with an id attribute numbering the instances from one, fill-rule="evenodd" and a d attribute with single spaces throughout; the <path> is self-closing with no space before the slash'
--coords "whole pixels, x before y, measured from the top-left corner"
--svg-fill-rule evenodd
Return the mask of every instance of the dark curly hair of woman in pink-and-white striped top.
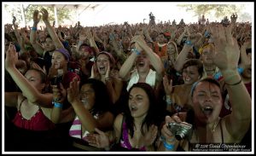
<path id="1" fill-rule="evenodd" d="M 85 80 L 83 84 L 80 84 L 80 90 L 84 84 L 90 84 L 90 87 L 95 92 L 95 104 L 91 108 L 90 113 L 92 113 L 92 115 L 95 115 L 96 113 L 102 114 L 109 111 L 111 101 L 108 95 L 106 84 L 96 78 L 89 78 Z"/>

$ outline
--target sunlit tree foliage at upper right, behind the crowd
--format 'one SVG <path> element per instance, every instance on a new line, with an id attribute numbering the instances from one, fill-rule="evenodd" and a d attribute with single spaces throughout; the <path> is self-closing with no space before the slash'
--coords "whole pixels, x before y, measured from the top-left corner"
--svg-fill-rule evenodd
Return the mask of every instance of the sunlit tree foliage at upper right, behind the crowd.
<path id="1" fill-rule="evenodd" d="M 224 16 L 230 17 L 231 14 L 240 14 L 244 5 L 243 4 L 179 4 L 178 7 L 185 8 L 186 11 L 194 12 L 194 16 L 205 16 L 215 12 L 215 17 L 221 19 Z"/>

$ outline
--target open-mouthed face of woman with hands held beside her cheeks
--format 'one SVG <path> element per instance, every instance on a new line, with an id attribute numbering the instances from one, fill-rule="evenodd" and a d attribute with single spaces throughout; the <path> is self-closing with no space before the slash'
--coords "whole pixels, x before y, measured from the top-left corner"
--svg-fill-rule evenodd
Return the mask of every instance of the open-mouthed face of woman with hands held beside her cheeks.
<path id="1" fill-rule="evenodd" d="M 104 54 L 98 55 L 97 61 L 96 61 L 96 66 L 101 75 L 106 74 L 106 72 L 108 70 L 108 65 L 110 66 L 108 55 L 104 55 Z"/>

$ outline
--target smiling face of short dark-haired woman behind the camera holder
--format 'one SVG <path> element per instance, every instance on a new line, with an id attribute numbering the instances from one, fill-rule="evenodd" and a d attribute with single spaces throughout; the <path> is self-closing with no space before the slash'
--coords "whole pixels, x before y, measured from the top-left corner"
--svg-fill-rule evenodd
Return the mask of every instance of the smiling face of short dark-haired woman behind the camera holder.
<path id="1" fill-rule="evenodd" d="M 200 79 L 197 66 L 188 66 L 183 69 L 184 84 L 194 84 Z"/>

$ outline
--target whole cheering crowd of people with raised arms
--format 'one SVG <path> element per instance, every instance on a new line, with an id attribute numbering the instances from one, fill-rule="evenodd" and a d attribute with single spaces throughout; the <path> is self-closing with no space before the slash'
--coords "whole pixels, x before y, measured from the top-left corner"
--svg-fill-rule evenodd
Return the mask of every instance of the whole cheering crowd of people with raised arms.
<path id="1" fill-rule="evenodd" d="M 42 9 L 5 25 L 5 151 L 251 151 L 252 24 L 149 17 L 55 27 Z"/>

